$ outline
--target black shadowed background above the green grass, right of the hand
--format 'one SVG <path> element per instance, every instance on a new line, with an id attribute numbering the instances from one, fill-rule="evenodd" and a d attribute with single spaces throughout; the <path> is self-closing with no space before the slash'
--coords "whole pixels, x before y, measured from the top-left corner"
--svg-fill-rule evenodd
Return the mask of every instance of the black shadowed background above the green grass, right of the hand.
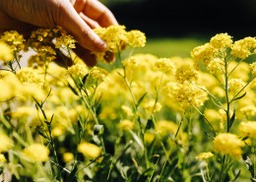
<path id="1" fill-rule="evenodd" d="M 255 0 L 144 0 L 109 7 L 127 30 L 148 37 L 213 36 L 235 39 L 256 34 Z"/>

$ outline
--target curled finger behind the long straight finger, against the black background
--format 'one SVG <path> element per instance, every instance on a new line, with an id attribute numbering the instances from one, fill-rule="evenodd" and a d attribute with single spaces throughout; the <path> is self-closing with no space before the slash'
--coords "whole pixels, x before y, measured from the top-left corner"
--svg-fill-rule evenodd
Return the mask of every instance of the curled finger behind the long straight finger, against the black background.
<path id="1" fill-rule="evenodd" d="M 76 0 L 74 8 L 103 28 L 118 24 L 112 12 L 97 0 Z"/>

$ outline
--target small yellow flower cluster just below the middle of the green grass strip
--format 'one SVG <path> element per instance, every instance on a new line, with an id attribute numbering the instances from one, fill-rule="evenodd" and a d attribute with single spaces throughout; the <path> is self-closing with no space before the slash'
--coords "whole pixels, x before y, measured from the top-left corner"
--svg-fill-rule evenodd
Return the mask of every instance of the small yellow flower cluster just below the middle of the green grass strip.
<path id="1" fill-rule="evenodd" d="M 171 62 L 168 58 L 160 58 L 156 62 L 156 66 L 160 69 L 163 73 L 171 73 L 174 74 L 176 71 L 174 63 Z"/>

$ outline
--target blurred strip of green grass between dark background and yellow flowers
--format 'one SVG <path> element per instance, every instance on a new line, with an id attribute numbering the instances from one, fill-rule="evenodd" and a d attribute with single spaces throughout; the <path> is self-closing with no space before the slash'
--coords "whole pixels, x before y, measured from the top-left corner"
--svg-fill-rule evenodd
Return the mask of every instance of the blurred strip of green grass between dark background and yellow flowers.
<path id="1" fill-rule="evenodd" d="M 184 38 L 149 38 L 143 48 L 136 48 L 134 53 L 151 53 L 158 57 L 190 57 L 190 51 L 196 46 L 202 45 L 207 40 Z"/>

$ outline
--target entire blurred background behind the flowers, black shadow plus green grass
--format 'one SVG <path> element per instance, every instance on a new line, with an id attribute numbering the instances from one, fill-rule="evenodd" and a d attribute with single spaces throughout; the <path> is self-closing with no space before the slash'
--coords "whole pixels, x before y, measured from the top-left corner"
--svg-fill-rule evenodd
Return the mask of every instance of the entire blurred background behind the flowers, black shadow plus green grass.
<path id="1" fill-rule="evenodd" d="M 135 52 L 160 57 L 190 51 L 227 32 L 233 39 L 255 36 L 256 0 L 101 0 L 127 30 L 146 33 L 147 45 Z"/>

